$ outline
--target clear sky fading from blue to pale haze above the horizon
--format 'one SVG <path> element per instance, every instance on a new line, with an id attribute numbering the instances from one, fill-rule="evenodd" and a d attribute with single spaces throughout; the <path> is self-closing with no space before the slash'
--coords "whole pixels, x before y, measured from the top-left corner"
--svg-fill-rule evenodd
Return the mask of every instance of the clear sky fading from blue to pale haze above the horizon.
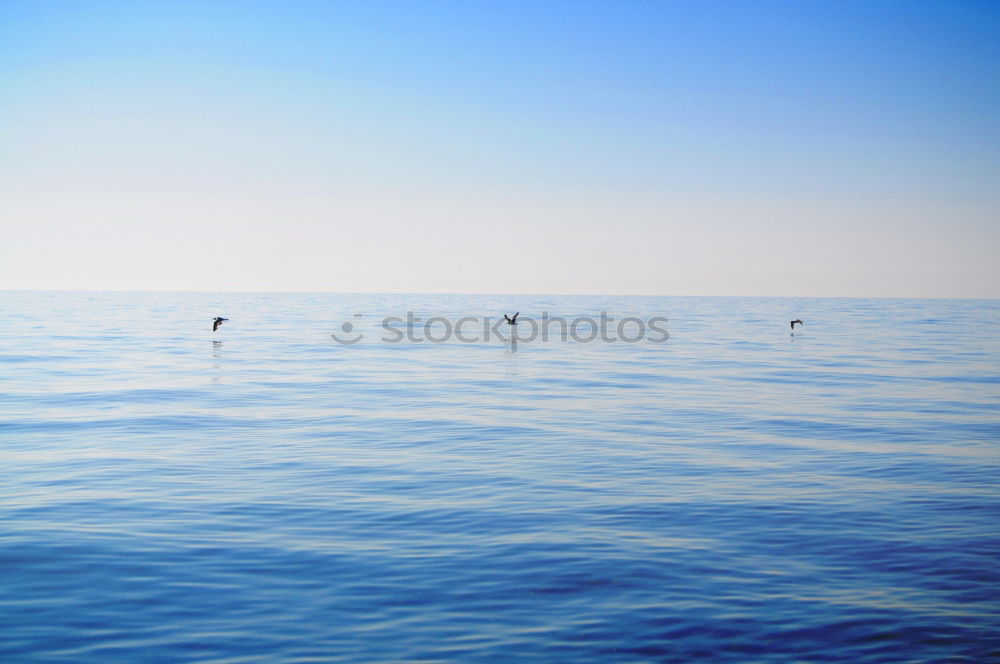
<path id="1" fill-rule="evenodd" d="M 997 2 L 0 2 L 0 289 L 997 298 L 998 256 Z"/>

